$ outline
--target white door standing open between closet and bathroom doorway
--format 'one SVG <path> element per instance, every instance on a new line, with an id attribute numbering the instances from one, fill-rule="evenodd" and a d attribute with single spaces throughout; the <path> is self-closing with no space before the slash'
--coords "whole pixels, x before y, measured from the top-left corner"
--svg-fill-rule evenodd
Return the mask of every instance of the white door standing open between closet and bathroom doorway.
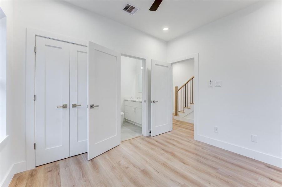
<path id="1" fill-rule="evenodd" d="M 120 54 L 88 42 L 88 160 L 120 144 Z"/>

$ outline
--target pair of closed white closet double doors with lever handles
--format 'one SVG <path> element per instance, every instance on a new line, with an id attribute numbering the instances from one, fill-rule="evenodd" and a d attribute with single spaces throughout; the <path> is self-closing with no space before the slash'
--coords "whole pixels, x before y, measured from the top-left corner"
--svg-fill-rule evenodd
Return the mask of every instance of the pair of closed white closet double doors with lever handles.
<path id="1" fill-rule="evenodd" d="M 35 165 L 87 152 L 87 47 L 36 36 Z"/>

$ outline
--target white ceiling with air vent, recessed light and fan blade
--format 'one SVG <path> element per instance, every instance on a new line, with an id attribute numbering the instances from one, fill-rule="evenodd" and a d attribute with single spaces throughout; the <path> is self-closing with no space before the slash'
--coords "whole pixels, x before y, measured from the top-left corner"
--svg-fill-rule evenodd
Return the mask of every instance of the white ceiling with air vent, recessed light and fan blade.
<path id="1" fill-rule="evenodd" d="M 258 0 L 163 0 L 157 11 L 149 11 L 154 0 L 65 1 L 165 41 L 258 2 Z M 127 3 L 135 5 L 140 10 L 134 15 L 123 11 Z M 169 30 L 163 31 L 164 27 L 169 27 Z"/>

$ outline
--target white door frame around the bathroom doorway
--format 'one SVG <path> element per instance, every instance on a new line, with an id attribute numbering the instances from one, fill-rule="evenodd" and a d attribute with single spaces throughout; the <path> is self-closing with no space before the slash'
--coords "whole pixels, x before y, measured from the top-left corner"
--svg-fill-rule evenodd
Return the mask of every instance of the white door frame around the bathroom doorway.
<path id="1" fill-rule="evenodd" d="M 120 54 L 121 56 L 142 60 L 142 67 L 143 67 L 142 69 L 142 135 L 149 136 L 151 129 L 149 129 L 148 120 L 150 120 L 151 122 L 151 119 L 148 119 L 148 116 L 149 116 L 149 112 L 151 113 L 151 111 L 148 111 L 149 108 L 148 103 L 150 103 L 149 101 L 151 101 L 151 98 L 149 98 L 149 92 L 148 92 L 149 79 L 147 77 L 147 71 L 148 71 L 147 63 L 150 62 L 151 59 L 149 59 L 145 55 L 136 54 L 134 52 L 126 51 L 126 50 L 123 50 Z"/>

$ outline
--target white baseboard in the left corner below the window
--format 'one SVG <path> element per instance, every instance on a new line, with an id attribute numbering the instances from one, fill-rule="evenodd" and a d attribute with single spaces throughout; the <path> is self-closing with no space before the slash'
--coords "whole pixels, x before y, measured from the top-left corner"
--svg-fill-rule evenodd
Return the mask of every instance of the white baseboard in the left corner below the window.
<path id="1" fill-rule="evenodd" d="M 16 173 L 20 173 L 22 171 L 25 171 L 26 170 L 26 161 L 22 161 L 22 162 L 18 162 L 18 163 L 15 163 L 13 164 L 7 175 L 3 178 L 3 180 L 1 181 L 0 183 L 0 187 L 8 187 L 14 174 Z"/>

